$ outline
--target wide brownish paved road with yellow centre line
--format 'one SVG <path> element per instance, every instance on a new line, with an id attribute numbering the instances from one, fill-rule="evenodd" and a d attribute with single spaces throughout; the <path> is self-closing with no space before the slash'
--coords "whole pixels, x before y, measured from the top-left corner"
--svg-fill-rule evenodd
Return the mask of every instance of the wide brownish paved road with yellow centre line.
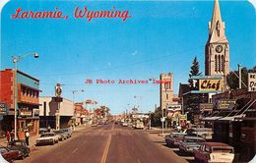
<path id="1" fill-rule="evenodd" d="M 23 161 L 32 163 L 186 162 L 164 150 L 148 133 L 109 124 L 80 131 L 54 146 L 37 146 Z"/>

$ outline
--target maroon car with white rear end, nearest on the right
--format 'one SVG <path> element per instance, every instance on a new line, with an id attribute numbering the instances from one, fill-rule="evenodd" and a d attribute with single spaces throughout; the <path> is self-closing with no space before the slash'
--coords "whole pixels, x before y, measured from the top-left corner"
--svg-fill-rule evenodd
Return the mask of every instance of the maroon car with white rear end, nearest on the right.
<path id="1" fill-rule="evenodd" d="M 232 162 L 233 147 L 222 142 L 203 142 L 199 149 L 194 149 L 195 160 L 198 162 Z"/>

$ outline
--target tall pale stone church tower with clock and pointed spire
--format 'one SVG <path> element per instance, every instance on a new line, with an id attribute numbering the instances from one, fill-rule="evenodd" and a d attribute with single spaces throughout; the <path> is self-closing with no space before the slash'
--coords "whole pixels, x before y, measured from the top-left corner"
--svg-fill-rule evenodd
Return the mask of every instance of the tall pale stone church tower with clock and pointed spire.
<path id="1" fill-rule="evenodd" d="M 229 45 L 224 34 L 219 0 L 215 0 L 212 21 L 209 22 L 209 37 L 205 47 L 205 75 L 229 74 Z"/>

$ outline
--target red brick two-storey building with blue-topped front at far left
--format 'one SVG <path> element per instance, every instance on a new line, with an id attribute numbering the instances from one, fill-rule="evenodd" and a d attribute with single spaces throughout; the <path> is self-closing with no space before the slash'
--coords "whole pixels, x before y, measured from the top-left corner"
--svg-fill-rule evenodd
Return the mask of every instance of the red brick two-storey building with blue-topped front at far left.
<path id="1" fill-rule="evenodd" d="M 25 129 L 29 130 L 31 136 L 37 136 L 39 133 L 39 80 L 19 70 L 15 73 L 15 70 L 6 69 L 1 71 L 0 85 L 0 101 L 9 108 L 7 115 L 3 116 L 2 130 L 14 130 L 16 98 L 18 138 L 24 138 Z"/>

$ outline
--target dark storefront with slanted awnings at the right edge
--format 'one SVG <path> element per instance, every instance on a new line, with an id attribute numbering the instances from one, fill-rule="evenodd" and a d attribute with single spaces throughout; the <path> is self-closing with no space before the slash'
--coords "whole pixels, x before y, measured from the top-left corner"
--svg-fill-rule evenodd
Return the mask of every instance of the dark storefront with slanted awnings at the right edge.
<path id="1" fill-rule="evenodd" d="M 250 161 L 256 153 L 256 92 L 226 91 L 214 95 L 213 103 L 213 114 L 202 119 L 213 124 L 213 141 L 233 146 L 235 161 Z"/>

